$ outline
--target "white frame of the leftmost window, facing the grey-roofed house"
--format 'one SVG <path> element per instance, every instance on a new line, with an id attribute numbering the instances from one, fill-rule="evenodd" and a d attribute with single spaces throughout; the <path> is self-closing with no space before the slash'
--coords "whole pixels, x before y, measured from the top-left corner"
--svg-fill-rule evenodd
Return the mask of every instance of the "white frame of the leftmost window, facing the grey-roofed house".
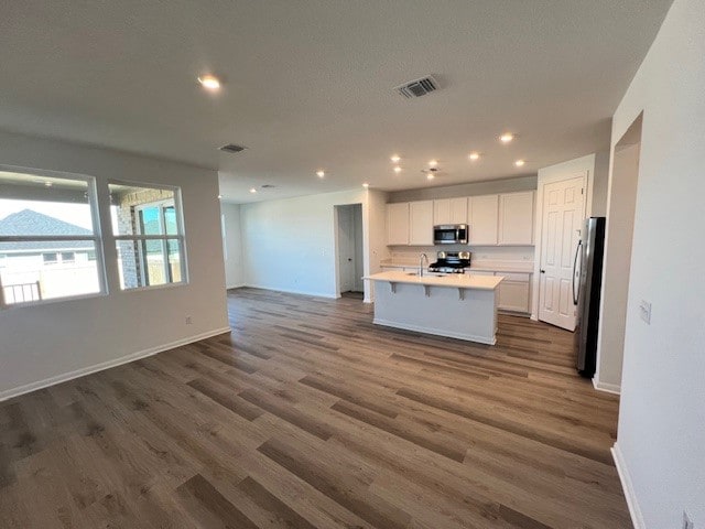
<path id="1" fill-rule="evenodd" d="M 0 242 L 72 242 L 76 240 L 89 240 L 93 241 L 94 248 L 96 251 L 96 269 L 98 272 L 98 292 L 90 292 L 87 294 L 76 294 L 76 295 L 63 295 L 61 298 L 50 298 L 43 300 L 30 300 L 23 302 L 13 302 L 6 303 L 4 301 L 4 287 L 2 285 L 2 278 L 0 277 L 0 309 L 12 309 L 17 306 L 26 306 L 26 305 L 40 305 L 47 303 L 56 303 L 61 301 L 69 301 L 69 300 L 80 300 L 86 298 L 96 298 L 99 295 L 107 294 L 107 283 L 106 283 L 106 269 L 105 269 L 105 256 L 102 251 L 102 237 L 100 233 L 100 214 L 98 212 L 98 192 L 96 185 L 95 176 L 89 176 L 86 174 L 75 174 L 75 173 L 64 173 L 58 171 L 43 171 L 43 170 L 34 170 L 28 168 L 18 168 L 12 165 L 0 165 L 0 171 L 9 172 L 9 173 L 18 173 L 24 174 L 30 177 L 51 177 L 58 180 L 73 180 L 73 181 L 83 181 L 87 184 L 87 198 L 88 206 L 90 208 L 90 220 L 93 224 L 93 235 L 48 235 L 48 236 L 24 236 L 24 235 L 13 235 L 13 236 L 3 236 L 0 235 Z M 44 253 L 44 252 L 42 252 Z M 48 252 L 47 252 L 48 253 Z M 59 250 L 56 251 L 56 258 L 58 259 Z M 43 258 L 43 256 L 42 256 Z"/>

